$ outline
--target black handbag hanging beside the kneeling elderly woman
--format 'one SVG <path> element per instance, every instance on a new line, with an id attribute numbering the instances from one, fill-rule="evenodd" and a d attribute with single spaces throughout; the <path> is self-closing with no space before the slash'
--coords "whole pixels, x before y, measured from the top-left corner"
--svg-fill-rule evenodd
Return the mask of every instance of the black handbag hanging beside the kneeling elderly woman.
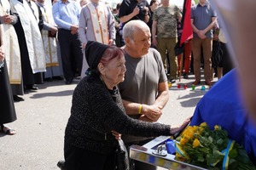
<path id="1" fill-rule="evenodd" d="M 115 168 L 114 170 L 129 170 L 129 156 L 122 139 L 118 140 L 118 146 L 115 150 Z"/>

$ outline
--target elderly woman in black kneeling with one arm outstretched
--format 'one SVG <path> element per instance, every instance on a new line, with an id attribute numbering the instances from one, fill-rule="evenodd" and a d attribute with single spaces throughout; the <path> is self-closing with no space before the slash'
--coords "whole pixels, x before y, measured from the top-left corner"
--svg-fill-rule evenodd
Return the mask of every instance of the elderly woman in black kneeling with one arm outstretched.
<path id="1" fill-rule="evenodd" d="M 90 68 L 73 93 L 65 132 L 65 169 L 113 169 L 116 139 L 119 139 L 113 131 L 156 137 L 177 133 L 189 123 L 187 120 L 179 127 L 171 127 L 126 116 L 116 87 L 125 79 L 122 50 L 100 42 L 88 42 L 85 56 Z"/>

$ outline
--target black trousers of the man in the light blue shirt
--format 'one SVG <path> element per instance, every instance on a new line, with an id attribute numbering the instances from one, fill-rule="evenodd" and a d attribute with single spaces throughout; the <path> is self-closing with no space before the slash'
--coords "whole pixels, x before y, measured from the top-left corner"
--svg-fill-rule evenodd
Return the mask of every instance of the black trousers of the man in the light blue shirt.
<path id="1" fill-rule="evenodd" d="M 61 48 L 62 68 L 66 81 L 73 81 L 76 73 L 82 71 L 83 53 L 78 34 L 59 29 L 58 40 Z"/>

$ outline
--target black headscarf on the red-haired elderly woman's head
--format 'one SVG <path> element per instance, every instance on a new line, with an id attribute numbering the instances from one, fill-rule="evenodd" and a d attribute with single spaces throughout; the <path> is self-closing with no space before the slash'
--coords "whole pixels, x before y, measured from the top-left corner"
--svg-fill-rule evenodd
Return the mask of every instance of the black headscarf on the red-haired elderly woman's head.
<path id="1" fill-rule="evenodd" d="M 87 42 L 85 46 L 85 58 L 91 71 L 96 70 L 100 60 L 102 59 L 102 55 L 108 47 L 108 45 L 100 42 Z"/>

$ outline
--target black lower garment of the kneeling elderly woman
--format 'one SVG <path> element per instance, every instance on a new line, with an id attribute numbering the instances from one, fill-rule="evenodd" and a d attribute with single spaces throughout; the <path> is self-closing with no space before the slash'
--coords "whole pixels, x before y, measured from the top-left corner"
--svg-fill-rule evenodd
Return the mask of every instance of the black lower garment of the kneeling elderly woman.
<path id="1" fill-rule="evenodd" d="M 84 150 L 71 144 L 64 144 L 65 170 L 113 170 L 114 151 L 100 154 Z"/>

